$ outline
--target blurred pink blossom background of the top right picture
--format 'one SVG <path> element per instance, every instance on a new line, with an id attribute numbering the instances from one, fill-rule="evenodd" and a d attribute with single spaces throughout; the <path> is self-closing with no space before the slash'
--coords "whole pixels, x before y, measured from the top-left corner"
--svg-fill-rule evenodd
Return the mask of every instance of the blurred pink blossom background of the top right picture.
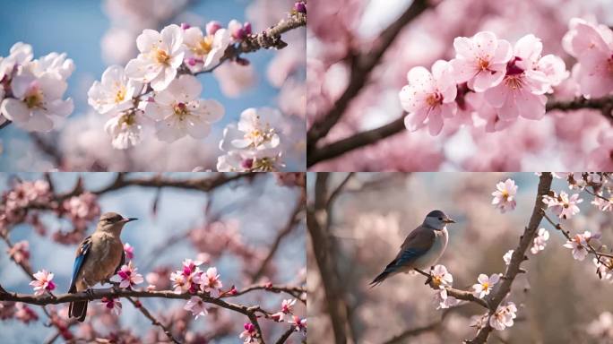
<path id="1" fill-rule="evenodd" d="M 399 17 L 414 3 L 419 4 L 415 8 L 426 9 L 401 25 L 405 21 Z M 575 60 L 562 47 L 569 20 L 579 17 L 613 26 L 613 6 L 609 0 L 502 3 L 386 0 L 385 5 L 376 0 L 313 0 L 310 4 L 313 9 L 309 12 L 307 32 L 307 126 L 347 99 L 341 95 L 351 95 L 341 120 L 316 147 L 385 128 L 361 137 L 361 144 L 344 142 L 355 149 L 342 150 L 342 154 L 337 151 L 326 156 L 325 153 L 332 153 L 332 148 L 318 154 L 315 148 L 309 148 L 310 169 L 348 172 L 601 169 L 593 168 L 595 158 L 588 156 L 599 146 L 599 134 L 610 130 L 608 117 L 599 110 L 550 111 L 539 121 L 520 118 L 496 133 L 486 133 L 486 121 L 480 116 L 456 116 L 445 120 L 442 133 L 431 136 L 427 127 L 414 133 L 405 129 L 398 93 L 407 84 L 410 68 L 422 65 L 429 70 L 436 60 L 453 58 L 453 39 L 472 37 L 481 30 L 493 31 L 512 44 L 532 33 L 542 39 L 542 55 L 562 57 L 570 71 Z M 384 36 L 389 36 L 384 30 L 399 24 L 398 36 L 370 68 L 369 61 L 384 46 Z M 368 67 L 362 70 L 360 64 Z M 573 99 L 575 86 L 574 82 L 563 82 L 555 88 L 553 98 Z M 308 144 L 313 144 L 310 138 Z"/>

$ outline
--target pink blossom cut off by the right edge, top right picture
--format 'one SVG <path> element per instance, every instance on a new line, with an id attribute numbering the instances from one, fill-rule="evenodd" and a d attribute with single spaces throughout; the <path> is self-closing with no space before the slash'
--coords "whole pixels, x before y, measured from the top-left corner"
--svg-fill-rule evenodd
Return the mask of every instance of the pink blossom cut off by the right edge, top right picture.
<path id="1" fill-rule="evenodd" d="M 566 52 L 577 59 L 574 78 L 581 93 L 599 98 L 613 91 L 613 31 L 583 19 L 570 20 L 562 40 Z"/>

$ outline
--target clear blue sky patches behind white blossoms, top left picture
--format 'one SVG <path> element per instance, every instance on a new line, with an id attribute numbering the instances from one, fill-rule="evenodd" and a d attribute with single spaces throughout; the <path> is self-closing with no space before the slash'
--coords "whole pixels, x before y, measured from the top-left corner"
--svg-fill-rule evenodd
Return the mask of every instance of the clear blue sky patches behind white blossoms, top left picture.
<path id="1" fill-rule="evenodd" d="M 251 1 L 246 0 L 197 0 L 187 8 L 203 22 L 216 20 L 227 25 L 232 19 L 245 22 L 245 9 Z M 100 39 L 110 27 L 105 13 L 104 2 L 71 0 L 7 0 L 3 1 L 0 12 L 0 56 L 7 56 L 13 44 L 22 41 L 33 47 L 34 58 L 51 52 L 66 53 L 72 58 L 75 70 L 68 79 L 65 97 L 74 101 L 74 111 L 68 120 L 85 115 L 91 110 L 87 103 L 87 90 L 91 83 L 99 80 L 108 64 L 101 55 Z M 157 28 L 155 28 L 157 29 Z M 264 28 L 254 28 L 259 30 Z M 136 43 L 134 42 L 134 45 Z M 260 50 L 246 56 L 254 65 L 257 80 L 255 87 L 247 90 L 237 99 L 224 96 L 219 83 L 212 74 L 198 76 L 203 83 L 203 99 L 217 99 L 226 109 L 225 116 L 212 126 L 211 136 L 218 142 L 227 124 L 237 122 L 240 113 L 247 107 L 276 107 L 278 90 L 272 87 L 265 71 L 274 56 L 273 51 Z M 135 57 L 135 56 L 134 56 Z M 102 115 L 99 115 L 102 116 Z M 32 170 L 20 168 L 17 160 L 32 154 L 29 134 L 9 125 L 0 131 L 4 153 L 0 154 L 0 170 Z M 110 144 L 110 140 L 109 140 Z M 217 149 L 217 143 L 213 145 Z M 218 154 L 220 154 L 219 151 Z M 295 161 L 289 161 L 289 168 Z"/>

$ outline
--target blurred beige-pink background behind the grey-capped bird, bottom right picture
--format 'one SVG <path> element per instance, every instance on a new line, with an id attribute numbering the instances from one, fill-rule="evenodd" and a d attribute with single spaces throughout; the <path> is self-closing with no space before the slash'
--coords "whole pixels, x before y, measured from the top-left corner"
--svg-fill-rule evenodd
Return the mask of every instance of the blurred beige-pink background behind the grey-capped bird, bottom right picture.
<path id="1" fill-rule="evenodd" d="M 503 254 L 515 248 L 528 225 L 539 176 L 358 173 L 348 178 L 348 174 L 333 173 L 320 180 L 324 194 L 316 193 L 315 179 L 323 175 L 309 174 L 307 185 L 309 210 L 316 202 L 325 204 L 332 198 L 323 208 L 327 211 L 315 215 L 321 222 L 331 218 L 324 234 L 318 235 L 312 227 L 314 218 L 307 218 L 309 340 L 335 342 L 333 322 L 346 331 L 350 343 L 458 343 L 473 338 L 476 329 L 469 327 L 471 316 L 483 314 L 483 308 L 471 304 L 436 310 L 434 291 L 424 285 L 423 276 L 399 274 L 376 288 L 368 284 L 393 260 L 410 231 L 435 209 L 457 221 L 448 226 L 449 245 L 438 262 L 453 274 L 453 288 L 471 289 L 479 273 L 504 273 Z M 506 178 L 519 185 L 517 208 L 501 214 L 491 204 L 491 193 Z M 576 192 L 568 190 L 566 180 L 556 178 L 551 189 Z M 610 247 L 610 212 L 592 205 L 588 193 L 581 193 L 581 198 L 581 212 L 561 220 L 562 225 L 571 235 L 584 230 L 601 233 L 602 243 Z M 494 331 L 488 342 L 611 343 L 610 280 L 599 280 L 592 256 L 575 261 L 571 250 L 562 246 L 566 238 L 547 221 L 540 228 L 548 229 L 547 246 L 536 255 L 527 253 L 529 260 L 522 263 L 527 273 L 514 280 L 508 298 L 518 307 L 515 324 Z M 321 250 L 327 259 L 317 259 L 316 252 Z M 443 314 L 444 321 L 439 323 Z M 404 331 L 421 328 L 393 340 Z"/>

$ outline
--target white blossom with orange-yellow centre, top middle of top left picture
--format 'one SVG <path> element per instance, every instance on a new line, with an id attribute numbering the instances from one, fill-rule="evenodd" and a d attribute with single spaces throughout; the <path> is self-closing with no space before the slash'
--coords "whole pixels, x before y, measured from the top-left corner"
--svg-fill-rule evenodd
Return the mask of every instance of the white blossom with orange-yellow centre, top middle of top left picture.
<path id="1" fill-rule="evenodd" d="M 137 82 L 151 83 L 153 90 L 164 90 L 177 76 L 183 64 L 183 30 L 168 25 L 160 32 L 142 30 L 136 38 L 140 54 L 125 65 L 125 75 Z"/>

